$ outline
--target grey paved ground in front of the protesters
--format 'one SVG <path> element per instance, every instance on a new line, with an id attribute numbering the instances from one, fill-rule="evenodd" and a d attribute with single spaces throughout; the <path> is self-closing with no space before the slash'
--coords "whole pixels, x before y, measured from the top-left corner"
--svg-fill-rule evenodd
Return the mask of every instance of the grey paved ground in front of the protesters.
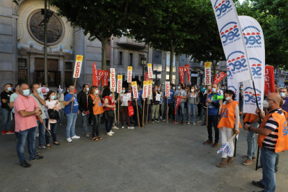
<path id="1" fill-rule="evenodd" d="M 64 126 L 57 128 L 61 145 L 38 150 L 44 159 L 28 161 L 31 168 L 19 166 L 15 135 L 0 136 L 1 192 L 261 190 L 250 182 L 261 179 L 262 170 L 255 170 L 255 161 L 250 166 L 241 164 L 244 161 L 241 156 L 247 150 L 243 129 L 234 162 L 226 168 L 217 168 L 221 154 L 216 152 L 221 146 L 202 144 L 207 140 L 207 128 L 200 124 L 155 122 L 144 129 L 113 129 L 113 136 L 106 136 L 101 125 L 103 139 L 94 142 L 81 134 L 79 115 L 76 134 L 81 138 L 67 143 L 65 121 L 64 117 Z M 89 129 L 92 131 L 92 127 Z M 280 154 L 276 191 L 288 188 L 287 157 L 288 152 Z"/>

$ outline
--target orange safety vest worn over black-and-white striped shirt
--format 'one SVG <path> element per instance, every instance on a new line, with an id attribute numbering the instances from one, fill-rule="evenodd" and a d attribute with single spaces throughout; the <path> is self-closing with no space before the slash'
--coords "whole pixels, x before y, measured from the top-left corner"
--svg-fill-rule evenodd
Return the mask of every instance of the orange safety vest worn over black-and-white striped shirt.
<path id="1" fill-rule="evenodd" d="M 287 112 L 282 110 L 285 115 L 281 115 L 279 113 L 271 113 L 267 114 L 260 125 L 260 129 L 263 129 L 266 125 L 267 120 L 273 116 L 273 118 L 278 122 L 278 141 L 275 145 L 275 153 L 282 152 L 288 150 L 288 127 L 287 127 Z M 262 148 L 262 141 L 266 138 L 266 136 L 258 134 L 257 143 L 259 147 Z"/>

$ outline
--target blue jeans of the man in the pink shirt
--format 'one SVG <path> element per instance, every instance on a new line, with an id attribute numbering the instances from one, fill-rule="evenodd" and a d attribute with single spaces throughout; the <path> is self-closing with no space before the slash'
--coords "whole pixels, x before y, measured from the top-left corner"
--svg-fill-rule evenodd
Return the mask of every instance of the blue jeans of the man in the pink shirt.
<path id="1" fill-rule="evenodd" d="M 25 143 L 26 139 L 28 140 L 28 152 L 30 156 L 30 160 L 36 157 L 36 150 L 35 150 L 35 138 L 37 134 L 37 127 L 32 127 L 30 129 L 26 129 L 24 131 L 19 131 L 17 136 L 17 156 L 19 159 L 20 164 L 23 161 L 26 161 L 25 157 Z"/>

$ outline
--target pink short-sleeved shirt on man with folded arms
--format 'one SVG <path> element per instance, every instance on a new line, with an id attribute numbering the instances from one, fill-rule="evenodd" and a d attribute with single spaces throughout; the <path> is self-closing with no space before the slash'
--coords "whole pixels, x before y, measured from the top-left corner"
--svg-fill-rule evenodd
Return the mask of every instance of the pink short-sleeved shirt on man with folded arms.
<path id="1" fill-rule="evenodd" d="M 38 103 L 34 97 L 28 96 L 24 97 L 19 95 L 14 102 L 15 109 L 15 131 L 24 131 L 32 127 L 37 127 L 36 115 L 31 115 L 28 117 L 22 117 L 19 111 L 31 112 L 35 111 L 35 108 L 39 107 Z"/>

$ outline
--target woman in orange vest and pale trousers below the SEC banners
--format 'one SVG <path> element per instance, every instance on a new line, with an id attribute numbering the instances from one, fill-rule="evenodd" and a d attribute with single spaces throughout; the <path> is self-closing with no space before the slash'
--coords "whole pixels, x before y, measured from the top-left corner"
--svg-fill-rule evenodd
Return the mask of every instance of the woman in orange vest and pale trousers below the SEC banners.
<path id="1" fill-rule="evenodd" d="M 236 134 L 239 134 L 240 116 L 238 102 L 234 101 L 235 95 L 232 90 L 225 90 L 224 93 L 225 102 L 223 102 L 221 109 L 221 120 L 218 122 L 218 128 L 221 129 L 221 141 L 222 145 L 227 143 L 233 136 L 233 129 L 235 127 Z M 219 168 L 224 165 L 230 165 L 233 162 L 234 143 L 229 143 L 231 152 L 227 161 L 227 153 L 222 152 L 221 163 L 217 166 Z"/>

